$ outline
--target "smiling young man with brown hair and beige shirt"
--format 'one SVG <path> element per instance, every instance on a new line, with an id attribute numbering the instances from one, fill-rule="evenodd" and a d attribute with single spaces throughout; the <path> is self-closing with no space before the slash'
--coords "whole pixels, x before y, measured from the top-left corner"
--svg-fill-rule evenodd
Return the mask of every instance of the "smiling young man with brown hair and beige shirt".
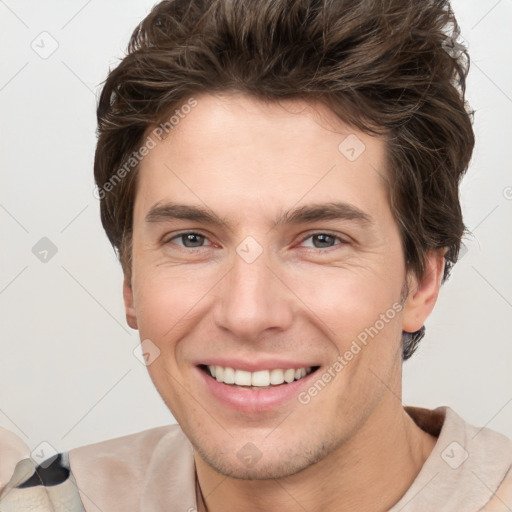
<path id="1" fill-rule="evenodd" d="M 401 402 L 464 234 L 450 24 L 440 1 L 153 9 L 105 83 L 95 177 L 178 425 L 18 465 L 5 510 L 41 482 L 103 512 L 512 509 L 507 438 Z"/>

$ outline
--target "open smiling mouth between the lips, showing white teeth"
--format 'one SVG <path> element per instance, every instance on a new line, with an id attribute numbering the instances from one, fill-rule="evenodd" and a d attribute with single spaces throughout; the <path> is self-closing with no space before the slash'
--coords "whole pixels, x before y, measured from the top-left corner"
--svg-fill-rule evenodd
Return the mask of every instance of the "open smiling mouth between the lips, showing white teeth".
<path id="1" fill-rule="evenodd" d="M 301 380 L 310 373 L 317 371 L 320 366 L 259 370 L 256 372 L 223 366 L 206 366 L 204 364 L 199 365 L 199 368 L 210 378 L 227 386 L 246 390 L 261 390 L 285 386 Z"/>

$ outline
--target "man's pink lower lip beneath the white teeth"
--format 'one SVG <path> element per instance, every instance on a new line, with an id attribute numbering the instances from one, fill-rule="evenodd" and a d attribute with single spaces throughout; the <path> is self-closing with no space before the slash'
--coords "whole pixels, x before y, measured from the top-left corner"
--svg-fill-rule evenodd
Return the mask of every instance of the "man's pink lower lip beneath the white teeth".
<path id="1" fill-rule="evenodd" d="M 242 412 L 271 411 L 293 398 L 306 388 L 311 379 L 316 377 L 316 371 L 312 371 L 299 380 L 289 384 L 282 384 L 266 389 L 240 389 L 217 381 L 201 368 L 197 367 L 201 378 L 210 393 L 222 404 Z"/>

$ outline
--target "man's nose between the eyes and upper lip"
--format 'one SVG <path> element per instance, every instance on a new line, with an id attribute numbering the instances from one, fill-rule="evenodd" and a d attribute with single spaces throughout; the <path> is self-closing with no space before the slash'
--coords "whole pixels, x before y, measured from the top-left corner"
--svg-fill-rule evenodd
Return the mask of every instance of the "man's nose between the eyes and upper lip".
<path id="1" fill-rule="evenodd" d="M 293 293 L 266 252 L 248 262 L 235 253 L 220 284 L 215 323 L 238 340 L 256 341 L 264 333 L 287 329 L 293 321 Z"/>

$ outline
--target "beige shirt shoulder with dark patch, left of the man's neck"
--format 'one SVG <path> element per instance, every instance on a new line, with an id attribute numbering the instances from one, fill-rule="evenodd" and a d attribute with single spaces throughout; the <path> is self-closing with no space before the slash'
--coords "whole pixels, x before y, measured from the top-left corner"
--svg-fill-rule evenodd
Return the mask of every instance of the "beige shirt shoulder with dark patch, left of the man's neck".
<path id="1" fill-rule="evenodd" d="M 183 503 L 196 503 L 195 464 L 178 425 L 74 448 L 39 465 L 19 436 L 0 427 L 2 512 L 156 512 Z"/>

